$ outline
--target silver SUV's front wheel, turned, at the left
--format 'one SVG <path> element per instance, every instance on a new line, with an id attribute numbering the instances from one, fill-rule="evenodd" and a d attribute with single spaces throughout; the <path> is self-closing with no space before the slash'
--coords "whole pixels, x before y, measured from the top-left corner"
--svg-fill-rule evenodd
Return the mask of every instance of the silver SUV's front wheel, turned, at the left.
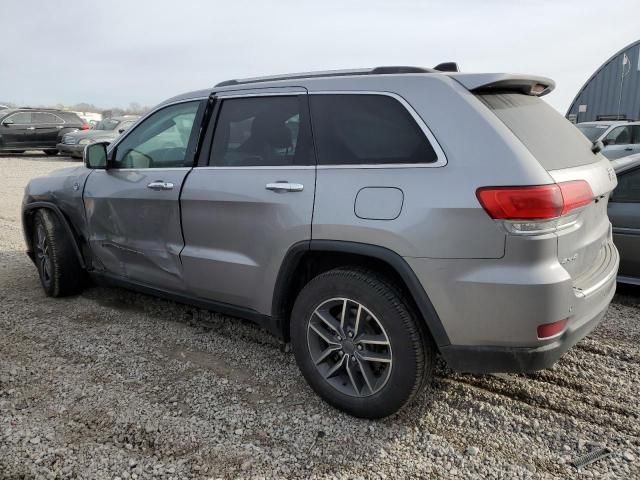
<path id="1" fill-rule="evenodd" d="M 85 272 L 57 215 L 41 209 L 33 223 L 33 253 L 40 283 L 50 297 L 64 297 L 80 293 Z"/>

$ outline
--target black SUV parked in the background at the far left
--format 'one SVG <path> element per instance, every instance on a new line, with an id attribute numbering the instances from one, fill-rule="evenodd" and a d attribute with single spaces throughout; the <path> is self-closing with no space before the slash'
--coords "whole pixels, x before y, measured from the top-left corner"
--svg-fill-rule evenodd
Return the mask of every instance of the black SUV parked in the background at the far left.
<path id="1" fill-rule="evenodd" d="M 56 144 L 68 132 L 89 128 L 72 112 L 53 109 L 0 110 L 0 152 L 43 150 L 57 155 Z"/>

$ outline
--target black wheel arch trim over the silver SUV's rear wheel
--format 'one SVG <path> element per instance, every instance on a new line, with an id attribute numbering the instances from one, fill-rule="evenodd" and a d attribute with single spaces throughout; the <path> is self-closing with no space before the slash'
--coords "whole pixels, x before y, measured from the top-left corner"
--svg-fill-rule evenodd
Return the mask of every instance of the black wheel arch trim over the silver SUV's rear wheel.
<path id="1" fill-rule="evenodd" d="M 315 276 L 340 266 L 366 267 L 390 277 L 420 314 L 438 347 L 449 337 L 422 284 L 397 253 L 378 245 L 340 240 L 310 240 L 293 245 L 280 267 L 271 308 L 272 329 L 289 339 L 291 310 L 298 293 Z"/>

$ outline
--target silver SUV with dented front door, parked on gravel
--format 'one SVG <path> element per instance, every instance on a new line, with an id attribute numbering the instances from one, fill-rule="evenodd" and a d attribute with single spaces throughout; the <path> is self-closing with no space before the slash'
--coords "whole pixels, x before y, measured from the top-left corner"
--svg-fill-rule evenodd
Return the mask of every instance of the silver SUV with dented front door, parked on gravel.
<path id="1" fill-rule="evenodd" d="M 414 398 L 436 354 L 547 368 L 602 320 L 618 270 L 616 176 L 539 98 L 553 87 L 380 67 L 174 97 L 29 183 L 27 251 L 50 296 L 88 275 L 252 319 L 361 417 Z"/>

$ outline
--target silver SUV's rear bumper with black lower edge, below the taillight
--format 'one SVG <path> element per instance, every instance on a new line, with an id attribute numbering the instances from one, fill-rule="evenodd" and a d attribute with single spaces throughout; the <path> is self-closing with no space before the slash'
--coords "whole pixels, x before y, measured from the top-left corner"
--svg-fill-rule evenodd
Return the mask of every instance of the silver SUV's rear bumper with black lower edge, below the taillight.
<path id="1" fill-rule="evenodd" d="M 449 367 L 469 373 L 534 372 L 551 367 L 606 314 L 615 294 L 619 255 L 610 241 L 605 250 L 601 268 L 579 285 L 557 260 L 538 269 L 523 263 L 511 272 L 507 269 L 508 278 L 501 276 L 504 265 L 493 268 L 495 261 L 467 260 L 441 289 L 442 273 L 451 270 L 443 269 L 442 261 L 435 263 L 440 278 L 431 268 L 418 269 L 451 342 L 439 345 Z M 411 263 L 414 268 L 431 267 L 433 260 L 412 259 Z M 537 338 L 537 326 L 562 319 L 567 319 L 567 326 L 561 334 Z"/>

